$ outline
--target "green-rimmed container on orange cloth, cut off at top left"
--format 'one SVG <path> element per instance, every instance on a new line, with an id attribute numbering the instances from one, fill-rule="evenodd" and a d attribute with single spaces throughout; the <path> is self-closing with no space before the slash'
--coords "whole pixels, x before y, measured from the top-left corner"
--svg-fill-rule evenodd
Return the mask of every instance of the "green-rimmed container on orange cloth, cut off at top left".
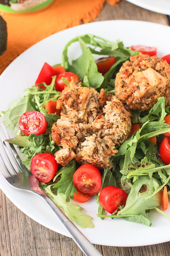
<path id="1" fill-rule="evenodd" d="M 0 10 L 10 13 L 41 11 L 54 0 L 0 0 Z"/>

